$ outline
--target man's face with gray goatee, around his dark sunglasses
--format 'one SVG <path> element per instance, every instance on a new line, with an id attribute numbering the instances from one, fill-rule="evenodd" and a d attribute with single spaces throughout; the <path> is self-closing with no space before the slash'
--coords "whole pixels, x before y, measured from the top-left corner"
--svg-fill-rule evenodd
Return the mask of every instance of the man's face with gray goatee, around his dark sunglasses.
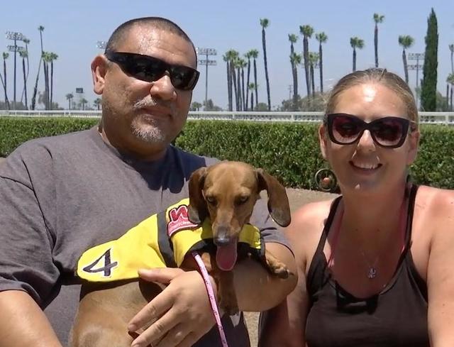
<path id="1" fill-rule="evenodd" d="M 115 51 L 196 67 L 196 56 L 187 40 L 150 25 L 130 28 Z M 145 82 L 128 75 L 115 62 L 105 57 L 103 60 L 104 79 L 97 79 L 94 89 L 103 96 L 104 138 L 119 150 L 143 158 L 159 158 L 184 126 L 192 91 L 175 88 L 168 74 L 155 82 Z"/>

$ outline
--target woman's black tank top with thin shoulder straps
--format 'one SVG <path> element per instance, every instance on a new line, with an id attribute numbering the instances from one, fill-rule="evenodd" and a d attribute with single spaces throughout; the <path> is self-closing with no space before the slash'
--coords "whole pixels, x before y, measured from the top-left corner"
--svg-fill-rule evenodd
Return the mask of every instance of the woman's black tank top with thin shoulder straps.
<path id="1" fill-rule="evenodd" d="M 308 347 L 428 347 L 427 286 L 411 258 L 411 221 L 417 187 L 411 188 L 405 248 L 380 294 L 358 299 L 331 277 L 323 248 L 341 197 L 336 199 L 307 277 Z"/>

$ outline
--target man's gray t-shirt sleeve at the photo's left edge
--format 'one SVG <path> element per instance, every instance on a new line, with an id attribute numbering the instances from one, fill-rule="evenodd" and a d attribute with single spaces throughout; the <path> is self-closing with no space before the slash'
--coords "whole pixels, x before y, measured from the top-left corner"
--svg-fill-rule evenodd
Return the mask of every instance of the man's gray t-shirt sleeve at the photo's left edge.
<path id="1" fill-rule="evenodd" d="M 52 200 L 52 189 L 45 187 L 51 175 L 51 158 L 39 148 L 16 150 L 0 167 L 0 291 L 26 291 L 41 306 L 60 276 L 52 261 L 55 238 L 43 214 Z M 38 182 L 43 184 L 37 189 Z"/>

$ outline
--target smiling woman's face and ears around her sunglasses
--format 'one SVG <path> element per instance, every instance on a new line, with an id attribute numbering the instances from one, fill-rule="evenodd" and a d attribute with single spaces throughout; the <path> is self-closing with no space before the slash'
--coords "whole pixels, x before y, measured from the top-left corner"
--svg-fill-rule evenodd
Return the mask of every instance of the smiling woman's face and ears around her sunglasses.
<path id="1" fill-rule="evenodd" d="M 350 87 L 338 94 L 334 113 L 349 114 L 367 123 L 385 116 L 408 119 L 404 101 L 383 84 L 372 82 Z M 398 124 L 398 121 L 394 123 Z M 391 123 L 392 128 L 393 125 Z M 380 138 L 389 139 L 387 131 L 375 135 L 379 141 Z M 331 164 L 343 192 L 352 189 L 373 192 L 394 189 L 402 184 L 407 165 L 416 157 L 419 141 L 419 132 L 409 131 L 401 146 L 383 148 L 375 143 L 370 131 L 365 130 L 358 141 L 341 145 L 331 141 L 327 125 L 321 126 L 319 136 L 323 158 Z"/>

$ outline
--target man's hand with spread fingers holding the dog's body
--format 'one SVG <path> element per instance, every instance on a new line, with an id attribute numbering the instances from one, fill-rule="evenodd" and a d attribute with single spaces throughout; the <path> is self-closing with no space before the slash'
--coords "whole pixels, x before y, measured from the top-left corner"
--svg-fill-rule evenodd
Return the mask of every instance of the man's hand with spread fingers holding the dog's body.
<path id="1" fill-rule="evenodd" d="M 139 270 L 139 275 L 168 286 L 129 322 L 129 331 L 140 333 L 131 346 L 189 347 L 214 326 L 214 314 L 199 272 L 160 268 Z M 211 282 L 214 284 L 214 280 Z M 150 322 L 153 323 L 148 326 Z"/>

